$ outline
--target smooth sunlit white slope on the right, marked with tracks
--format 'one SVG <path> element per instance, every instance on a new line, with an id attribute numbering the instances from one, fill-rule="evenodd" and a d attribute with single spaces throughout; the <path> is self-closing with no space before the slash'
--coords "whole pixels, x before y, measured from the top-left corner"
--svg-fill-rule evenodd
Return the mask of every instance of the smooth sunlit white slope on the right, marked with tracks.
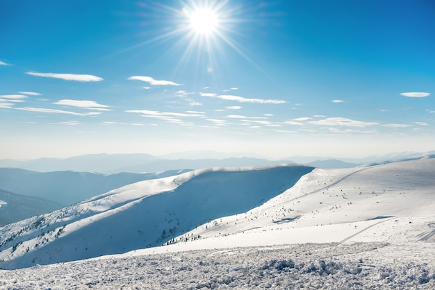
<path id="1" fill-rule="evenodd" d="M 242 215 L 210 221 L 175 241 L 183 241 L 185 237 L 190 236 L 207 239 L 242 232 L 253 233 L 251 238 L 243 239 L 255 240 L 258 239 L 259 232 L 274 229 L 290 229 L 294 234 L 309 235 L 306 229 L 310 227 L 311 232 L 315 233 L 318 231 L 312 227 L 338 223 L 364 222 L 359 225 L 364 227 L 377 223 L 377 219 L 383 217 L 434 217 L 434 157 L 435 155 L 431 155 L 420 160 L 388 162 L 354 169 L 314 169 L 303 176 L 295 186 L 267 203 Z M 413 219 L 408 219 L 407 223 L 409 222 L 412 223 Z M 422 237 L 435 241 L 435 234 L 430 234 L 429 223 L 423 225 L 424 229 L 420 230 L 420 234 L 429 229 Z M 402 226 L 409 230 L 409 225 Z M 356 227 L 352 232 L 359 231 L 360 228 Z M 304 230 L 296 230 L 297 228 Z M 334 234 L 334 228 L 325 230 L 327 232 L 322 232 L 318 238 L 310 237 L 311 241 L 337 241 L 334 237 L 331 239 L 331 234 L 338 235 Z M 343 239 L 345 237 L 343 236 Z M 240 236 L 235 238 L 240 239 Z M 288 237 L 286 241 L 301 239 Z M 216 243 L 220 242 L 224 241 Z"/>

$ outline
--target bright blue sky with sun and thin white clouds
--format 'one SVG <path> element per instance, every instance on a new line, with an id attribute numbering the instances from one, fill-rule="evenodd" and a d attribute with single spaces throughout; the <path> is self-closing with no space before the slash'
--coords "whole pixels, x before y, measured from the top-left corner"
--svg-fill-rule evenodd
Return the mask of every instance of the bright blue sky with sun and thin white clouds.
<path id="1" fill-rule="evenodd" d="M 435 4 L 0 3 L 0 158 L 435 149 Z M 194 15 L 215 19 L 210 31 Z"/>

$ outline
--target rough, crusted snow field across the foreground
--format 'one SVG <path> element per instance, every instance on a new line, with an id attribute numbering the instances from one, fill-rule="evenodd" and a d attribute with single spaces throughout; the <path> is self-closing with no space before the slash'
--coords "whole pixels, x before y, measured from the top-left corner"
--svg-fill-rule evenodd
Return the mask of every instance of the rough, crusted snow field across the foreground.
<path id="1" fill-rule="evenodd" d="M 416 249 L 425 255 L 413 255 Z M 1 289 L 434 289 L 435 244 L 295 244 L 0 271 Z"/>

